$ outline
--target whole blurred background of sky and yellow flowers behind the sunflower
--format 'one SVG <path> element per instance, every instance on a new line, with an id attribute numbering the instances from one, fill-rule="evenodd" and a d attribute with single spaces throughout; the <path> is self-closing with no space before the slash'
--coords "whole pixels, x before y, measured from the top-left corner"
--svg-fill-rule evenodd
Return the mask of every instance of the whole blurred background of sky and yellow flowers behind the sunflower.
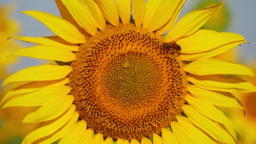
<path id="1" fill-rule="evenodd" d="M 71 1 L 71 0 L 70 0 Z M 190 0 L 185 3 L 180 18 L 186 13 L 220 3 L 218 0 Z M 226 53 L 218 55 L 219 59 L 243 63 L 256 73 L 256 9 L 254 0 L 226 0 L 222 9 L 216 13 L 202 28 L 216 31 L 228 31 L 241 34 L 250 44 L 242 44 Z M 15 49 L 32 46 L 33 44 L 17 42 L 7 38 L 20 36 L 50 36 L 54 35 L 41 22 L 21 14 L 25 10 L 37 10 L 58 15 L 58 7 L 53 0 L 0 0 L 0 84 L 3 79 L 16 71 L 46 61 L 31 58 L 5 59 L 6 55 Z M 256 77 L 244 77 L 256 85 Z M 0 89 L 0 99 L 5 93 Z M 246 115 L 239 109 L 224 109 L 225 114 L 233 119 L 241 130 L 239 143 L 256 143 L 256 93 L 234 94 L 242 101 Z M 36 124 L 21 124 L 29 111 L 35 108 L 13 107 L 0 110 L 0 143 L 21 143 L 23 137 L 36 127 Z"/>

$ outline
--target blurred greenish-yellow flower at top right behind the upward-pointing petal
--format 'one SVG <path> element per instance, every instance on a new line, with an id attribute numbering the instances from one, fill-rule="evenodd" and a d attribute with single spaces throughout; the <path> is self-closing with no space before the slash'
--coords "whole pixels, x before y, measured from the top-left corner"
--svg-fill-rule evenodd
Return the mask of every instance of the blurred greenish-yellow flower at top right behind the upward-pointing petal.
<path id="1" fill-rule="evenodd" d="M 196 3 L 196 9 L 201 9 L 206 6 L 211 6 L 220 3 L 220 0 L 201 0 Z M 231 20 L 231 12 L 228 4 L 225 4 L 222 9 L 214 13 L 212 17 L 202 26 L 202 29 L 212 29 L 216 31 L 225 30 Z"/>

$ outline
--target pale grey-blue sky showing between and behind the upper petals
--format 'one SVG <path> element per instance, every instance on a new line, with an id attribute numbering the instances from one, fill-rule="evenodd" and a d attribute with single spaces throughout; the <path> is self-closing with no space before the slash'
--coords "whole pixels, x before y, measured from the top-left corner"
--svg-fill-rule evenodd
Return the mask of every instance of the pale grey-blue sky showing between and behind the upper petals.
<path id="1" fill-rule="evenodd" d="M 185 15 L 189 11 L 193 10 L 192 7 L 195 6 L 200 0 L 189 0 L 186 2 L 183 10 L 181 12 L 181 16 Z M 226 0 L 225 1 L 232 13 L 232 19 L 229 28 L 227 31 L 238 33 L 243 35 L 250 44 L 243 44 L 239 48 L 239 53 L 241 53 L 242 57 L 240 61 L 247 65 L 252 60 L 256 61 L 256 1 L 254 0 Z M 41 22 L 38 22 L 34 18 L 29 17 L 28 15 L 21 14 L 21 11 L 25 10 L 37 10 L 43 11 L 47 13 L 52 13 L 55 15 L 59 15 L 58 8 L 53 0 L 0 0 L 0 4 L 14 4 L 16 7 L 15 12 L 12 17 L 15 18 L 21 24 L 21 32 L 22 36 L 49 36 L 54 35 L 47 27 L 45 27 Z M 28 43 L 22 43 L 25 47 L 31 46 Z M 10 69 L 11 73 L 15 71 L 29 67 L 38 65 L 42 63 L 42 61 L 38 61 L 35 59 L 29 58 L 21 58 L 19 65 L 12 67 Z M 254 62 L 255 63 L 255 62 Z"/>

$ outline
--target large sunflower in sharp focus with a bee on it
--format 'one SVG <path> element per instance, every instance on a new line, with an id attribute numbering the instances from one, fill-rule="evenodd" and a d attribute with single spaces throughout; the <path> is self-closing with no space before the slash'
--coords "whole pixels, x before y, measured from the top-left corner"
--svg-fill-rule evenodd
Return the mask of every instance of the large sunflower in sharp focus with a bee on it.
<path id="1" fill-rule="evenodd" d="M 23 143 L 235 143 L 237 129 L 218 106 L 243 109 L 231 92 L 256 87 L 236 75 L 254 74 L 212 57 L 246 41 L 198 30 L 223 3 L 175 23 L 185 1 L 55 2 L 61 18 L 22 13 L 56 36 L 16 36 L 38 45 L 10 56 L 57 64 L 3 82 L 14 87 L 3 108 L 40 106 L 23 119 L 42 122 Z"/>

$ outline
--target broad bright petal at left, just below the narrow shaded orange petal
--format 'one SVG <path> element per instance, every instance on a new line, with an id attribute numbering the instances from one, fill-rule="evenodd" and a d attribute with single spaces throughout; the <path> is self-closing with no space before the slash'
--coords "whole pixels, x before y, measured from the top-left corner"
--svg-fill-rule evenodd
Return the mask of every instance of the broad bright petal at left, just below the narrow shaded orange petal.
<path id="1" fill-rule="evenodd" d="M 67 95 L 70 90 L 71 88 L 66 85 L 45 86 L 37 91 L 11 99 L 10 101 L 5 103 L 3 108 L 12 106 L 42 106 L 53 99 L 61 98 Z"/>

